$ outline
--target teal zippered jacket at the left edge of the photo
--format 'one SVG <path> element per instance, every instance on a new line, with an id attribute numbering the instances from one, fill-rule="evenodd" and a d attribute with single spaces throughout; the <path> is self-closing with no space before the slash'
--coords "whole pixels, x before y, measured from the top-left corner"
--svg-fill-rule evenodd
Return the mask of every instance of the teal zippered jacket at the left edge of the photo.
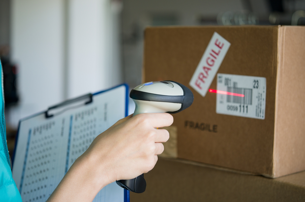
<path id="1" fill-rule="evenodd" d="M 22 201 L 16 183 L 12 177 L 12 170 L 9 160 L 9 151 L 6 144 L 6 130 L 4 117 L 4 92 L 3 92 L 3 71 L 0 60 L 1 69 L 1 101 L 0 101 L 0 202 L 18 202 Z"/>

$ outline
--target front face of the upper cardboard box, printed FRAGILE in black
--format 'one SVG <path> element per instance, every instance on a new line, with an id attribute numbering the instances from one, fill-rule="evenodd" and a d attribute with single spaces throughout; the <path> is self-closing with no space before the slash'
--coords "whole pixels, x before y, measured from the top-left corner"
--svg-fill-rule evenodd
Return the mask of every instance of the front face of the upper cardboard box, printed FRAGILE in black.
<path id="1" fill-rule="evenodd" d="M 305 169 L 305 163 L 302 162 L 297 169 L 288 168 L 284 169 L 285 172 L 276 174 L 273 170 L 273 165 L 276 164 L 273 162 L 274 158 L 283 155 L 279 150 L 285 151 L 286 147 L 293 145 L 293 143 L 282 144 L 285 140 L 279 135 L 277 141 L 280 139 L 282 143 L 278 141 L 278 153 L 273 153 L 277 71 L 281 59 L 278 57 L 278 50 L 281 48 L 279 47 L 281 44 L 278 43 L 279 28 L 279 26 L 215 26 L 159 27 L 145 30 L 145 82 L 173 80 L 186 85 L 194 93 L 192 106 L 173 115 L 173 126 L 177 126 L 178 132 L 179 158 L 270 177 L 288 174 L 292 170 L 296 172 L 302 166 Z M 214 32 L 231 43 L 218 73 L 266 77 L 265 120 L 216 114 L 216 94 L 207 93 L 202 97 L 188 85 Z M 210 88 L 216 89 L 216 77 Z M 282 108 L 280 104 L 278 104 L 279 108 Z M 294 118 L 292 116 L 286 120 L 288 127 Z M 185 121 L 192 121 L 195 124 L 204 123 L 205 129 L 185 127 Z M 278 121 L 282 124 L 282 120 Z M 212 130 L 213 125 L 217 125 L 217 132 Z M 283 135 L 287 137 L 288 134 Z M 294 139 L 297 139 L 298 135 L 300 133 L 295 135 Z M 303 149 L 298 148 L 298 151 L 301 150 Z M 283 159 L 286 161 L 288 158 Z M 294 166 L 295 161 L 289 163 Z M 282 165 L 282 162 L 279 161 L 278 165 Z"/>

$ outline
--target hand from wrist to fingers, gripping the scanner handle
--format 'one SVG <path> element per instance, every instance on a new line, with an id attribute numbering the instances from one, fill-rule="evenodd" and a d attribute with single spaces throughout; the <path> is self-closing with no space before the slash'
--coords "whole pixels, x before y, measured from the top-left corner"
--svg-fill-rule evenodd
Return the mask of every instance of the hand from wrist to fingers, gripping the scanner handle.
<path id="1" fill-rule="evenodd" d="M 109 183 L 133 179 L 150 171 L 164 150 L 173 117 L 168 113 L 143 113 L 119 120 L 91 143 L 84 156 L 91 156 L 98 170 L 107 173 Z"/>

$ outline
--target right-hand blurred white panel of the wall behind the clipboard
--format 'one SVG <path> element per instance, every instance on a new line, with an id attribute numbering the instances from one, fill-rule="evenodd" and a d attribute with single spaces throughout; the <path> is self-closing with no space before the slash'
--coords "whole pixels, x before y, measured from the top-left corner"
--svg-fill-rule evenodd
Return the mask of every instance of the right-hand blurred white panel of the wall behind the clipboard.
<path id="1" fill-rule="evenodd" d="M 120 3 L 70 0 L 68 98 L 123 81 L 120 61 Z"/>

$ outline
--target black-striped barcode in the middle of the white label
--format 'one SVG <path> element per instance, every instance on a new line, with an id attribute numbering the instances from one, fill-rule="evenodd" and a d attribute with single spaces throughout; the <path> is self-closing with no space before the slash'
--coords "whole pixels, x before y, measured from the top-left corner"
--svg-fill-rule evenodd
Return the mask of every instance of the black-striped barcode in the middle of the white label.
<path id="1" fill-rule="evenodd" d="M 227 103 L 239 103 L 239 104 L 252 105 L 252 89 L 236 88 L 236 87 L 228 86 L 227 91 L 231 92 L 231 93 L 237 93 L 237 94 L 244 95 L 244 97 L 227 95 Z"/>

